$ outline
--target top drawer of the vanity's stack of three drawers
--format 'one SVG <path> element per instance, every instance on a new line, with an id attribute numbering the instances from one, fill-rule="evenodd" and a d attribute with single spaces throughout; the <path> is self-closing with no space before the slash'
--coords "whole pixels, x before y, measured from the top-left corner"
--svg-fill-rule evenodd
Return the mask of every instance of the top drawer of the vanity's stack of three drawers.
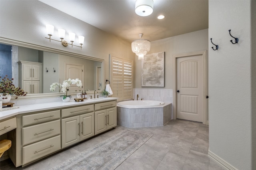
<path id="1" fill-rule="evenodd" d="M 47 111 L 42 113 L 36 113 L 31 115 L 22 116 L 22 125 L 32 125 L 45 121 L 51 121 L 60 118 L 60 110 Z"/>

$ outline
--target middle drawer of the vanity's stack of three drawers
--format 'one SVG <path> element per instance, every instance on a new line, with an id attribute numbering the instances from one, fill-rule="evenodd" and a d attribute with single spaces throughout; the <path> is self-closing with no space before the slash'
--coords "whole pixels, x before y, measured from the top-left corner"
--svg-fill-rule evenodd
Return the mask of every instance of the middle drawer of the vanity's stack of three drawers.
<path id="1" fill-rule="evenodd" d="M 27 145 L 60 134 L 60 120 L 22 128 L 22 144 Z"/>

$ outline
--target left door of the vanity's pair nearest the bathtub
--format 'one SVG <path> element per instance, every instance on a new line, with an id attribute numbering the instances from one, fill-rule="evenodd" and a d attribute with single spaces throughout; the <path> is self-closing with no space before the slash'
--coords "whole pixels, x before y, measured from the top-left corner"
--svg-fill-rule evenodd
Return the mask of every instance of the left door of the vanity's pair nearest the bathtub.
<path id="1" fill-rule="evenodd" d="M 94 112 L 95 117 L 95 135 L 106 131 L 106 110 L 100 110 Z"/>

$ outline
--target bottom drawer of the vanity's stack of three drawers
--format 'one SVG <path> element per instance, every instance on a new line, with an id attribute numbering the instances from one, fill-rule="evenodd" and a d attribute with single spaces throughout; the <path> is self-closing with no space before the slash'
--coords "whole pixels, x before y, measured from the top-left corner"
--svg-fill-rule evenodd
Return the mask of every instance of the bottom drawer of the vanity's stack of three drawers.
<path id="1" fill-rule="evenodd" d="M 60 150 L 60 135 L 22 148 L 23 164 Z"/>

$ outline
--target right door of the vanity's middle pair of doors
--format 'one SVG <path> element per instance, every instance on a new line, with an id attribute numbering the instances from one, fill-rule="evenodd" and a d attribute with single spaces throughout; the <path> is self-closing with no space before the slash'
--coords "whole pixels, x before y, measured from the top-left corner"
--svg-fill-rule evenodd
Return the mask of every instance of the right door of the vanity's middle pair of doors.
<path id="1" fill-rule="evenodd" d="M 94 112 L 80 115 L 80 141 L 94 136 Z"/>

